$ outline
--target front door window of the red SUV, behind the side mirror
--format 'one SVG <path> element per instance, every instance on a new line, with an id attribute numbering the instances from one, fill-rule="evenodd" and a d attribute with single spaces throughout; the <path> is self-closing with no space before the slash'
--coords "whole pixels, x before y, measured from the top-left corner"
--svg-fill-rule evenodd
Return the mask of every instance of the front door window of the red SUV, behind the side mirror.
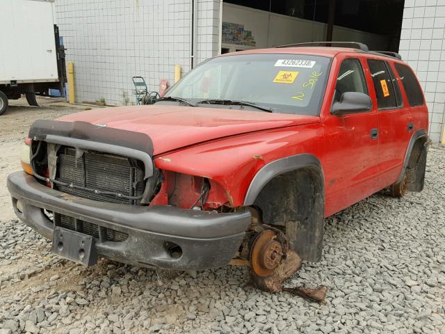
<path id="1" fill-rule="evenodd" d="M 339 101 L 346 92 L 359 92 L 368 94 L 363 67 L 356 58 L 348 58 L 341 63 L 337 84 L 335 85 L 334 100 Z"/>

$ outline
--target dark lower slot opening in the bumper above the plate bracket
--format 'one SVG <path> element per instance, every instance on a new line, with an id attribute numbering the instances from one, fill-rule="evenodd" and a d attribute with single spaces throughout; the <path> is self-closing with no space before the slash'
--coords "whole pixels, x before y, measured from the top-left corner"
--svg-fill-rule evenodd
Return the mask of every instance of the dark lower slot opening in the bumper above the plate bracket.
<path id="1" fill-rule="evenodd" d="M 80 219 L 65 216 L 64 214 L 55 214 L 55 217 L 56 226 L 66 228 L 67 230 L 88 234 L 102 242 L 121 242 L 128 239 L 128 234 L 125 232 L 120 232 L 111 228 L 104 228 L 93 223 L 88 223 L 88 221 L 81 221 Z"/>

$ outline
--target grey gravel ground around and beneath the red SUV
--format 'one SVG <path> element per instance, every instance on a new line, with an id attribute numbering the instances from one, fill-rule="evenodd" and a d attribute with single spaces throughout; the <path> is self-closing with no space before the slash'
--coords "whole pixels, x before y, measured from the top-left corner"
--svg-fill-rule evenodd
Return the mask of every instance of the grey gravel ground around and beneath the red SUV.
<path id="1" fill-rule="evenodd" d="M 445 334 L 445 147 L 430 149 L 422 193 L 379 193 L 325 220 L 322 262 L 287 282 L 326 285 L 317 304 L 259 292 L 240 267 L 172 273 L 101 260 L 86 269 L 51 255 L 13 218 L 4 178 L 19 169 L 31 116 L 72 109 L 25 109 L 0 118 L 0 334 Z"/>

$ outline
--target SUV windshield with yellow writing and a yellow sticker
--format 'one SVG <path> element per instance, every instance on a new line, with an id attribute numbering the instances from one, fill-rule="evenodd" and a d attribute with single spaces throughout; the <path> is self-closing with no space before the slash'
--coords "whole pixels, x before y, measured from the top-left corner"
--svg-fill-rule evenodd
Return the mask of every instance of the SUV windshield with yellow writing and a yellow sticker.
<path id="1" fill-rule="evenodd" d="M 212 58 L 188 73 L 165 96 L 197 104 L 205 100 L 225 100 L 225 104 L 227 100 L 244 101 L 277 113 L 317 116 L 329 63 L 330 58 L 307 54 Z"/>

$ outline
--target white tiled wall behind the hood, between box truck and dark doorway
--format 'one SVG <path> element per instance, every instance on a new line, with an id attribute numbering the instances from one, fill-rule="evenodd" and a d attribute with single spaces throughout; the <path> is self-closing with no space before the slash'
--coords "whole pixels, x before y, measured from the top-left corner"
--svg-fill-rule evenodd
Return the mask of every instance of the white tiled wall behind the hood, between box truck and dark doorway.
<path id="1" fill-rule="evenodd" d="M 219 3 L 198 0 L 197 60 L 218 54 Z M 74 62 L 76 101 L 136 102 L 131 77 L 149 90 L 190 70 L 191 0 L 56 0 L 56 23 Z"/>

